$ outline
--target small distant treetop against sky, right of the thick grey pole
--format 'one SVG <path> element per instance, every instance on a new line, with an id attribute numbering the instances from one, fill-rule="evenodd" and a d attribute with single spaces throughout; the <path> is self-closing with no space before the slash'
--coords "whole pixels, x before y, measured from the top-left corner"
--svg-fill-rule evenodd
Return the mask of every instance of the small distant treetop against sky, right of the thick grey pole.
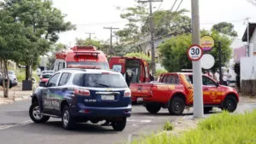
<path id="1" fill-rule="evenodd" d="M 237 37 L 237 32 L 234 30 L 234 25 L 228 22 L 220 22 L 212 26 L 212 31 L 229 35 L 231 37 Z"/>

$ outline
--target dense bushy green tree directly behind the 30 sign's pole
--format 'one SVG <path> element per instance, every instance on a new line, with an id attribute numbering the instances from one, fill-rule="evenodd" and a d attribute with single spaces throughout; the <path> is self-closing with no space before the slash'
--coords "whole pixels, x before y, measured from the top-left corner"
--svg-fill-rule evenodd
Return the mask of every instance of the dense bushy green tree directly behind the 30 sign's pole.
<path id="1" fill-rule="evenodd" d="M 231 39 L 219 32 L 212 31 L 202 31 L 201 35 L 211 35 L 215 42 L 220 41 L 222 43 L 222 65 L 230 60 L 231 57 Z M 168 72 L 180 72 L 181 69 L 191 69 L 192 62 L 186 55 L 187 49 L 191 44 L 191 34 L 183 34 L 177 37 L 172 37 L 165 43 L 161 43 L 159 46 L 160 54 L 163 57 L 161 63 L 166 68 Z M 209 54 L 213 55 L 215 61 L 218 61 L 218 45 L 215 45 Z M 215 62 L 214 66 L 211 68 L 212 72 L 218 70 L 219 64 Z"/>

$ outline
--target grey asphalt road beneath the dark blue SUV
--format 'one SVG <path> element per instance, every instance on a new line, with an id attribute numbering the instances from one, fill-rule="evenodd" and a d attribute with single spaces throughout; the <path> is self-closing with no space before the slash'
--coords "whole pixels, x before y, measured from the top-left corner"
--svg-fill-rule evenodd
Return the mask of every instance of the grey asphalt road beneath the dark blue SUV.
<path id="1" fill-rule="evenodd" d="M 149 114 L 143 106 L 133 106 L 131 118 L 128 118 L 125 130 L 113 131 L 111 126 L 100 124 L 78 124 L 76 130 L 61 128 L 61 119 L 50 118 L 45 124 L 34 124 L 28 116 L 30 101 L 20 101 L 0 105 L 0 143 L 1 144 L 113 144 L 125 143 L 143 135 L 150 135 L 162 130 L 166 121 L 173 121 L 177 116 L 170 116 L 166 109 L 158 114 Z M 256 108 L 256 104 L 242 103 L 237 112 Z M 185 113 L 192 117 L 190 112 Z M 103 122 L 102 122 L 103 123 Z"/>

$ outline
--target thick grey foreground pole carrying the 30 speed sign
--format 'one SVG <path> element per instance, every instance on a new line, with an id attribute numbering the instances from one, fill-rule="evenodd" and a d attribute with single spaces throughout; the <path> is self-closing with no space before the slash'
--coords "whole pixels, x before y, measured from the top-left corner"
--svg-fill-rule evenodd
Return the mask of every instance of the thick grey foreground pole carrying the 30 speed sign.
<path id="1" fill-rule="evenodd" d="M 192 12 L 192 43 L 200 45 L 200 20 L 199 20 L 199 0 L 191 0 Z M 193 61 L 193 89 L 194 89 L 194 117 L 202 118 L 203 98 L 202 98 L 202 75 L 201 60 Z"/>

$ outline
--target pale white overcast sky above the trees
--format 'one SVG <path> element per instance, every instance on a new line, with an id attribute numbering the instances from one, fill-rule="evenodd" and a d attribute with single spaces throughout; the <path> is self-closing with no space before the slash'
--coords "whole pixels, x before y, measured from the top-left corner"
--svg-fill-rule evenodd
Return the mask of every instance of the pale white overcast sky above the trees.
<path id="1" fill-rule="evenodd" d="M 155 2 L 153 10 L 171 9 L 174 1 Z M 173 10 L 177 9 L 181 1 L 179 9 L 191 11 L 191 0 L 177 0 Z M 201 29 L 210 30 L 212 25 L 226 21 L 235 26 L 237 38 L 241 39 L 247 27 L 245 19 L 249 17 L 250 22 L 256 22 L 256 5 L 248 1 L 255 0 L 199 0 Z M 58 43 L 73 46 L 76 38 L 89 37 L 86 32 L 95 33 L 91 37 L 97 40 L 109 40 L 110 31 L 103 27 L 124 28 L 127 21 L 119 15 L 125 8 L 135 6 L 137 0 L 53 0 L 53 3 L 55 8 L 67 14 L 65 20 L 77 26 L 76 31 L 60 33 Z M 190 12 L 187 15 L 191 17 Z"/>

